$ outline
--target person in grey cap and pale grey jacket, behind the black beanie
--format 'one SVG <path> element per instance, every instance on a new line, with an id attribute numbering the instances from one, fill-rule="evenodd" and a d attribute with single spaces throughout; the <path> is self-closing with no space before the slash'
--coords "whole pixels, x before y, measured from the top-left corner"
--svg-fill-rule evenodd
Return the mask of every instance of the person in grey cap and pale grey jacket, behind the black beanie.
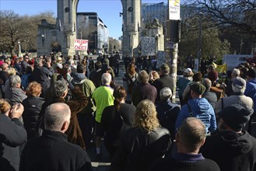
<path id="1" fill-rule="evenodd" d="M 233 94 L 231 96 L 223 97 L 220 99 L 214 108 L 216 115 L 219 115 L 225 106 L 238 103 L 245 108 L 253 110 L 254 102 L 251 97 L 245 96 L 246 81 L 240 77 L 233 79 L 232 82 Z"/>

